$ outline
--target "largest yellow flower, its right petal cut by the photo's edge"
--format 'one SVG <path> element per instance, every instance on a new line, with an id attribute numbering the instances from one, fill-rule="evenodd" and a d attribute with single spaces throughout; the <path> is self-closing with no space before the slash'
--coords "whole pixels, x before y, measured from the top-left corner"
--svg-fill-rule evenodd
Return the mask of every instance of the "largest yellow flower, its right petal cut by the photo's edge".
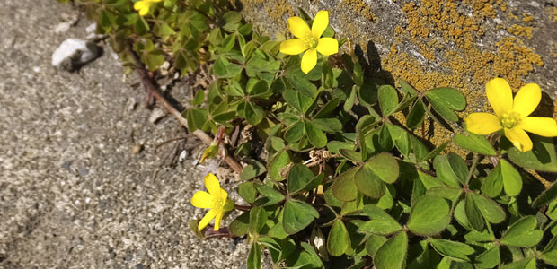
<path id="1" fill-rule="evenodd" d="M 542 91 L 535 83 L 524 85 L 513 100 L 508 82 L 492 79 L 485 85 L 485 92 L 495 115 L 473 113 L 464 119 L 466 128 L 473 134 L 491 134 L 503 129 L 505 136 L 521 152 L 532 150 L 529 133 L 545 137 L 557 136 L 557 123 L 551 117 L 528 117 L 540 100 Z M 525 132 L 526 131 L 526 132 Z"/>

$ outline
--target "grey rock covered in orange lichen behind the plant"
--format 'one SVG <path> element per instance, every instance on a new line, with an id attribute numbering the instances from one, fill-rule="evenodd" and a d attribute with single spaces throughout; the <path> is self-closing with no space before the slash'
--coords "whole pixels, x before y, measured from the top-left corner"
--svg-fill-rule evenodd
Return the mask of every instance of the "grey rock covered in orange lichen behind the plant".
<path id="1" fill-rule="evenodd" d="M 300 15 L 298 7 L 311 16 L 328 10 L 338 37 L 351 39 L 371 62 L 367 72 L 388 82 L 402 78 L 419 91 L 460 89 L 468 100 L 462 117 L 490 109 L 485 83 L 497 76 L 514 91 L 538 83 L 548 93 L 545 116 L 553 112 L 555 0 L 239 0 L 237 7 L 255 29 L 287 37 L 287 18 Z M 435 130 L 434 143 L 446 140 L 444 128 Z"/>

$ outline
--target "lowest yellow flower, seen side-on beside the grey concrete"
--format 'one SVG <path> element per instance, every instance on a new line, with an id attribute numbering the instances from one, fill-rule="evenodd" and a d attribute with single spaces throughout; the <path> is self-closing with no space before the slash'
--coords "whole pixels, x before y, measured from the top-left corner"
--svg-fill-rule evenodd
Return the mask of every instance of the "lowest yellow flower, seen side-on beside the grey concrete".
<path id="1" fill-rule="evenodd" d="M 204 178 L 205 187 L 208 193 L 204 191 L 196 192 L 191 197 L 191 204 L 199 208 L 210 208 L 209 212 L 205 214 L 203 219 L 199 221 L 198 230 L 203 230 L 207 227 L 208 223 L 215 219 L 215 230 L 220 228 L 220 222 L 223 219 L 223 214 L 234 209 L 234 201 L 228 199 L 228 193 L 218 184 L 218 178 L 215 175 L 208 173 Z"/>

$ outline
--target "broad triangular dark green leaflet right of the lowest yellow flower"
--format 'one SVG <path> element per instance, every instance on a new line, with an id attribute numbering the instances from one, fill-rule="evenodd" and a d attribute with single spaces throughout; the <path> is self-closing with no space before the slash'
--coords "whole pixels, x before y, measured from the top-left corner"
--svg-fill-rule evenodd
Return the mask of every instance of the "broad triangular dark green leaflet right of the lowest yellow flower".
<path id="1" fill-rule="evenodd" d="M 294 199 L 287 200 L 283 211 L 282 228 L 284 228 L 287 234 L 295 234 L 300 230 L 304 230 L 315 218 L 319 217 L 319 213 L 317 213 L 313 206 Z"/>

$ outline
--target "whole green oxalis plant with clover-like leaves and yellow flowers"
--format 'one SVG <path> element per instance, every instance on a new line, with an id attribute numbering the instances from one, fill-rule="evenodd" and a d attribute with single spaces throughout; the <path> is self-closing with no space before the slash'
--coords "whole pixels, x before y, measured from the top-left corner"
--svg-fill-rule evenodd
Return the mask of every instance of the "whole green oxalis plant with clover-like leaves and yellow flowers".
<path id="1" fill-rule="evenodd" d="M 248 268 L 261 267 L 264 250 L 276 268 L 557 265 L 557 187 L 532 176 L 557 172 L 557 125 L 530 117 L 541 100 L 536 84 L 513 99 L 494 78 L 486 95 L 495 115 L 463 121 L 460 91 L 381 82 L 337 38 L 326 11 L 300 10 L 287 20 L 293 38 L 275 40 L 227 1 L 75 4 L 128 71 L 151 71 L 144 82 L 165 61 L 181 74 L 210 67 L 214 79 L 182 116 L 191 132 L 215 136 L 203 160 L 225 148 L 247 165 L 237 189 L 205 177 L 207 192 L 191 204 L 208 212 L 190 224 L 202 239 L 246 238 Z M 433 147 L 420 132 L 425 121 L 462 131 Z M 246 126 L 252 141 L 227 143 Z M 463 151 L 446 153 L 449 143 Z"/>

